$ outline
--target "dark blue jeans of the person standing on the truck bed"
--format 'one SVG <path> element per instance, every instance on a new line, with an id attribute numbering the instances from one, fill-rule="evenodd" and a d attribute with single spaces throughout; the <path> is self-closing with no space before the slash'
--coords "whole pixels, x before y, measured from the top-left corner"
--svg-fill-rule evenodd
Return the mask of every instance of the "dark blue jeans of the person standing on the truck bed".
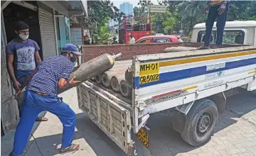
<path id="1" fill-rule="evenodd" d="M 216 40 L 216 45 L 222 45 L 223 43 L 223 33 L 224 33 L 224 28 L 225 28 L 225 22 L 227 18 L 227 13 L 228 13 L 228 8 L 229 6 L 226 7 L 225 11 L 219 15 L 218 14 L 218 8 L 220 6 L 210 6 L 209 13 L 208 13 L 208 18 L 206 21 L 206 38 L 204 40 L 204 45 L 209 46 L 210 45 L 210 36 L 211 32 L 213 30 L 213 24 L 216 18 L 217 23 L 217 40 Z"/>

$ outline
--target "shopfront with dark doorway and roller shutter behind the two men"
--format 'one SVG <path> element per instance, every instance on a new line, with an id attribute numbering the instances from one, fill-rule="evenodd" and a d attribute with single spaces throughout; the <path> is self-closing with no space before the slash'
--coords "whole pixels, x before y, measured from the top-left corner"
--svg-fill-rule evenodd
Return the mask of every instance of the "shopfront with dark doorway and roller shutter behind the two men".
<path id="1" fill-rule="evenodd" d="M 87 13 L 86 1 L 1 1 L 1 135 L 19 120 L 5 53 L 7 43 L 16 37 L 16 21 L 28 23 L 29 38 L 38 43 L 43 60 L 60 55 L 61 47 L 72 42 L 70 25 L 83 13 Z"/>

